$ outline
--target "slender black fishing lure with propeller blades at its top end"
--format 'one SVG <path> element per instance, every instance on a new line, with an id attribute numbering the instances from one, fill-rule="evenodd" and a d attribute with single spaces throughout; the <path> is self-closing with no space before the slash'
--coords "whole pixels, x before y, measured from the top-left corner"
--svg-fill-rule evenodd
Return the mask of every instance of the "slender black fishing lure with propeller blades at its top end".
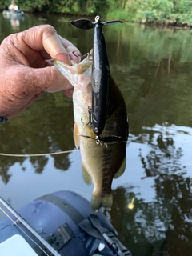
<path id="1" fill-rule="evenodd" d="M 102 32 L 102 26 L 109 26 L 122 21 L 100 22 L 99 16 L 95 17 L 95 22 L 88 19 L 78 19 L 71 21 L 74 26 L 83 29 L 94 29 L 94 44 L 92 57 L 92 106 L 91 125 L 94 134 L 99 137 L 106 124 L 106 114 L 109 105 L 109 82 L 110 67 L 106 52 L 106 42 Z"/>

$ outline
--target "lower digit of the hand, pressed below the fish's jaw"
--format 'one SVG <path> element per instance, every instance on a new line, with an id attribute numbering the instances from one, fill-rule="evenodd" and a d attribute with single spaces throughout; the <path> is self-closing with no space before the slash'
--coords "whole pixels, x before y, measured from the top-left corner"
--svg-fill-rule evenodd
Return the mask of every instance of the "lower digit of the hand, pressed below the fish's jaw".
<path id="1" fill-rule="evenodd" d="M 46 66 L 40 69 L 30 68 L 30 72 L 26 72 L 25 80 L 31 82 L 26 88 L 28 87 L 30 94 L 33 95 L 42 91 L 54 93 L 73 88 L 55 66 Z"/>

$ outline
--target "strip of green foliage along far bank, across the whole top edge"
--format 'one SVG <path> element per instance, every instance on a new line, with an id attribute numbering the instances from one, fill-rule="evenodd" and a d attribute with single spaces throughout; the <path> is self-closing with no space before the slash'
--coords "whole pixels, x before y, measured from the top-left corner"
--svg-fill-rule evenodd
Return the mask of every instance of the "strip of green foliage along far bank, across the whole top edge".
<path id="1" fill-rule="evenodd" d="M 18 0 L 26 12 L 49 12 L 74 15 L 107 15 L 130 22 L 188 22 L 192 23 L 190 0 Z M 10 0 L 0 0 L 0 10 L 6 9 Z"/>

